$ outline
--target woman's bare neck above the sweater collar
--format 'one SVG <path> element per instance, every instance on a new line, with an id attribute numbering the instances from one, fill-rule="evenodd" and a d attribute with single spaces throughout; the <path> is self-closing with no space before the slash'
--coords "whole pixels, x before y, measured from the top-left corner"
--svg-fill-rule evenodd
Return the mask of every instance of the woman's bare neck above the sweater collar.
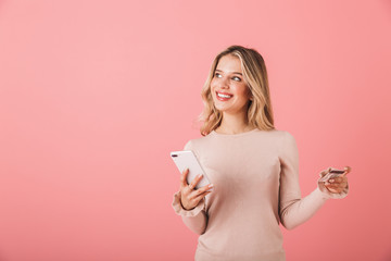
<path id="1" fill-rule="evenodd" d="M 249 125 L 247 112 L 238 114 L 223 113 L 222 124 L 215 129 L 216 133 L 220 134 L 240 134 L 245 133 L 254 127 Z"/>

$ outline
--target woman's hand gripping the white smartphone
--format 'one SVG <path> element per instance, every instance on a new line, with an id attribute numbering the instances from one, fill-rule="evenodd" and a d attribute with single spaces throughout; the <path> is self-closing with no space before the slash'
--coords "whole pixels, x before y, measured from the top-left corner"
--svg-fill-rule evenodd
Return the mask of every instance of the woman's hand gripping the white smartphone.
<path id="1" fill-rule="evenodd" d="M 189 169 L 186 169 L 180 175 L 180 203 L 184 209 L 191 210 L 197 207 L 203 197 L 211 191 L 213 185 L 206 185 L 202 188 L 194 189 L 195 185 L 202 179 L 202 174 L 198 175 L 189 185 L 186 182 L 186 177 L 189 174 Z"/>

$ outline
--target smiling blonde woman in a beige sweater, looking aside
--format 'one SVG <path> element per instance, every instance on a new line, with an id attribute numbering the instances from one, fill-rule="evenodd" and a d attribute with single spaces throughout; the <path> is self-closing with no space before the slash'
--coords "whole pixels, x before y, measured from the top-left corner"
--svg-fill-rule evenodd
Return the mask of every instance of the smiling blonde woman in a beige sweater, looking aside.
<path id="1" fill-rule="evenodd" d="M 195 260 L 285 260 L 279 222 L 291 229 L 327 199 L 344 198 L 346 177 L 318 183 L 301 198 L 295 139 L 274 127 L 266 67 L 255 50 L 232 46 L 220 52 L 202 99 L 203 137 L 185 150 L 194 152 L 212 184 L 194 189 L 202 176 L 187 184 L 186 170 L 173 202 L 200 235 Z"/>

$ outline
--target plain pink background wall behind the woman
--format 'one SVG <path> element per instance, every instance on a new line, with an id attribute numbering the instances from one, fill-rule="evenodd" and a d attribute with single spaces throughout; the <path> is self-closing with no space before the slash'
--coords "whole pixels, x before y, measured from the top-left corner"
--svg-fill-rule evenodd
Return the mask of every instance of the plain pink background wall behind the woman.
<path id="1" fill-rule="evenodd" d="M 386 0 L 0 1 L 0 260 L 192 260 L 168 154 L 234 44 L 265 58 L 303 196 L 353 167 L 287 260 L 390 260 L 390 28 Z"/>

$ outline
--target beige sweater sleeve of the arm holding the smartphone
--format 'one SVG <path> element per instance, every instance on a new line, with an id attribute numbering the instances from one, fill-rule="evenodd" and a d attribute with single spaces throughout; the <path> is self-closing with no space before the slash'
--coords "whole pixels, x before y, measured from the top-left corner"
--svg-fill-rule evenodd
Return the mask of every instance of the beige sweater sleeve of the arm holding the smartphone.
<path id="1" fill-rule="evenodd" d="M 184 150 L 191 149 L 191 140 L 188 141 Z M 186 210 L 180 202 L 180 190 L 174 194 L 174 200 L 172 203 L 174 211 L 181 216 L 185 225 L 195 234 L 202 235 L 206 229 L 207 215 L 205 211 L 205 198 L 195 206 L 194 209 Z"/>

